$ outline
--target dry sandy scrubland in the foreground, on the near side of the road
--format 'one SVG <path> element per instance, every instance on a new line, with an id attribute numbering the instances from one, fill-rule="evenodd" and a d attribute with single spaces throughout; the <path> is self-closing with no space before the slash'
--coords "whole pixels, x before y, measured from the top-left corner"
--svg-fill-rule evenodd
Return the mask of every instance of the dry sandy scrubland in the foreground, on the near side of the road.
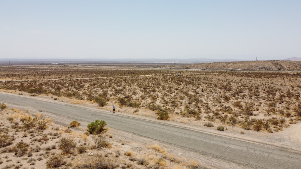
<path id="1" fill-rule="evenodd" d="M 41 113 L 31 116 L 12 107 L 2 109 L 0 131 L 2 169 L 198 167 L 196 161 L 169 153 L 158 144 L 133 146 L 114 139 L 105 127 L 100 134 L 90 134 L 79 122 L 62 127 Z"/>

